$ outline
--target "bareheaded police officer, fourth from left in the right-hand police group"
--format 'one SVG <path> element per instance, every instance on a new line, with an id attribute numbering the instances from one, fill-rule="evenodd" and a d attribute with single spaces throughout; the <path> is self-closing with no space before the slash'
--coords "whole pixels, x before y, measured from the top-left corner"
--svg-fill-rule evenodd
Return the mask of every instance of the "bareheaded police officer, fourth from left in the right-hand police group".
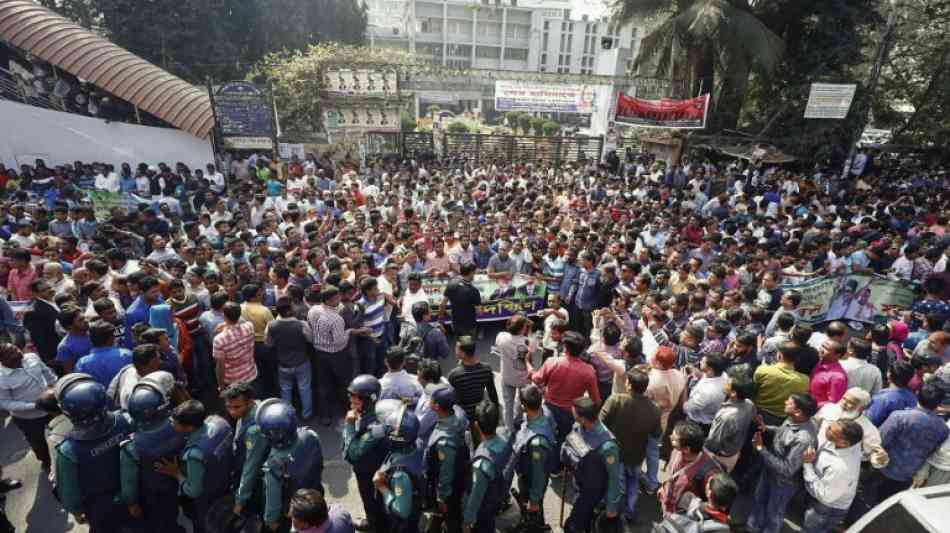
<path id="1" fill-rule="evenodd" d="M 475 407 L 475 430 L 481 444 L 472 456 L 472 486 L 462 518 L 465 533 L 494 533 L 495 518 L 507 493 L 504 465 L 511 457 L 511 445 L 495 433 L 500 416 L 498 406 L 487 399 Z"/>

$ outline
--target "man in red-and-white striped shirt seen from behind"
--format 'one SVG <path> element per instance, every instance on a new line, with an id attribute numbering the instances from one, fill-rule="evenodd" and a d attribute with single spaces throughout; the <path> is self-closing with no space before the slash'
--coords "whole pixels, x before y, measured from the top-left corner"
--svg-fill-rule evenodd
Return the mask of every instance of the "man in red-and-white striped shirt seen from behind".
<path id="1" fill-rule="evenodd" d="M 221 309 L 224 323 L 212 343 L 212 357 L 218 376 L 218 388 L 232 383 L 251 383 L 259 392 L 257 364 L 254 362 L 254 324 L 241 320 L 241 306 L 234 302 Z"/>

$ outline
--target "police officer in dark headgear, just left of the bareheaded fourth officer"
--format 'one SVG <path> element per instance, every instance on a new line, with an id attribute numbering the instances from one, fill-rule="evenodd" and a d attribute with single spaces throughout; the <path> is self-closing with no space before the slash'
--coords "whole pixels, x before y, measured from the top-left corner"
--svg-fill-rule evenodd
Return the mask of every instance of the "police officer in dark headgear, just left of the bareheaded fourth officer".
<path id="1" fill-rule="evenodd" d="M 462 530 L 462 491 L 468 480 L 467 423 L 455 416 L 455 389 L 443 385 L 432 391 L 437 421 L 424 451 L 428 501 L 442 514 L 448 533 Z"/>

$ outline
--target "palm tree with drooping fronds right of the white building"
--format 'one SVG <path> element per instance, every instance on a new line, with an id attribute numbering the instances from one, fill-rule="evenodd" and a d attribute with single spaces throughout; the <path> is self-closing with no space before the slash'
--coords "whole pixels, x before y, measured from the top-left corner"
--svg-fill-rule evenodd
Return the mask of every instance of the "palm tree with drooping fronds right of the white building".
<path id="1" fill-rule="evenodd" d="M 782 38 L 756 16 L 763 0 L 613 0 L 620 22 L 655 17 L 635 66 L 655 65 L 663 76 L 679 64 L 690 95 L 700 86 L 712 94 L 713 126 L 734 128 L 749 76 L 768 76 L 784 51 Z M 682 60 L 685 60 L 681 63 Z"/>

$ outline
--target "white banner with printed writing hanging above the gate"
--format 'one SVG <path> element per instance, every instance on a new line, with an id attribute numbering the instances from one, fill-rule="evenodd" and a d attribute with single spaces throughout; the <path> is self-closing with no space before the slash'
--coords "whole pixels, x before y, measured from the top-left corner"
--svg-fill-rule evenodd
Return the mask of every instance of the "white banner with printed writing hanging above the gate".
<path id="1" fill-rule="evenodd" d="M 600 85 L 561 85 L 510 80 L 495 81 L 497 111 L 591 114 Z"/>

